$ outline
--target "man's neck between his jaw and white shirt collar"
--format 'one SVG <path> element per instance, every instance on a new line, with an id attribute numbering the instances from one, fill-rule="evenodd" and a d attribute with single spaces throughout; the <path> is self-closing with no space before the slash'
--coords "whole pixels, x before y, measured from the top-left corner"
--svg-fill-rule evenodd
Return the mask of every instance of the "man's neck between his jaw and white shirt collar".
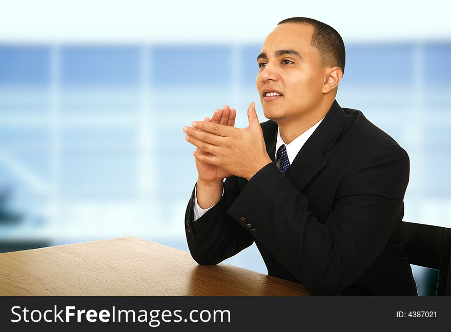
<path id="1" fill-rule="evenodd" d="M 332 107 L 334 100 L 332 102 L 329 100 L 321 102 L 315 109 L 303 112 L 294 119 L 290 118 L 277 121 L 280 136 L 282 136 L 285 144 L 290 144 L 296 137 L 303 134 L 309 128 L 312 128 L 321 120 Z"/>

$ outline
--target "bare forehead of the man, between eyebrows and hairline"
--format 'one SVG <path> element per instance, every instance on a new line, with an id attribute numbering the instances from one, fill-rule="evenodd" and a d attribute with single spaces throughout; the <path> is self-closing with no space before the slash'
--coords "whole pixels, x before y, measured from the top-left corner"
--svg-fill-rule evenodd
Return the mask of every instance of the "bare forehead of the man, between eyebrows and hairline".
<path id="1" fill-rule="evenodd" d="M 302 54 L 315 52 L 316 48 L 310 45 L 314 28 L 308 24 L 284 23 L 278 25 L 264 40 L 261 52 L 274 55 L 281 49 L 292 49 Z"/>

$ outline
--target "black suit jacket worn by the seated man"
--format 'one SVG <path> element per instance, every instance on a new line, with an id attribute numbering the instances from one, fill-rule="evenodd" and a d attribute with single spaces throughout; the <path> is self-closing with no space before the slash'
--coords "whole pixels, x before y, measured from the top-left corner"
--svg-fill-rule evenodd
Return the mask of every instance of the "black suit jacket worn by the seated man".
<path id="1" fill-rule="evenodd" d="M 409 159 L 360 111 L 337 101 L 282 175 L 277 123 L 261 123 L 273 160 L 250 181 L 232 176 L 224 195 L 185 229 L 192 257 L 217 264 L 254 241 L 268 274 L 313 295 L 417 295 L 401 220 Z"/>

